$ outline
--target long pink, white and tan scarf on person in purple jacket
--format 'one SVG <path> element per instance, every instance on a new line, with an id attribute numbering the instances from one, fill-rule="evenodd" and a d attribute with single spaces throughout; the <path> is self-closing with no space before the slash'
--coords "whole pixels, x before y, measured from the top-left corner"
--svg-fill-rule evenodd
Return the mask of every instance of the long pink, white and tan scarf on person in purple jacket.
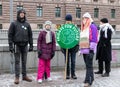
<path id="1" fill-rule="evenodd" d="M 89 31 L 90 31 L 91 19 L 86 19 L 86 22 L 82 22 L 81 24 L 81 32 L 80 32 L 80 48 L 89 48 Z"/>

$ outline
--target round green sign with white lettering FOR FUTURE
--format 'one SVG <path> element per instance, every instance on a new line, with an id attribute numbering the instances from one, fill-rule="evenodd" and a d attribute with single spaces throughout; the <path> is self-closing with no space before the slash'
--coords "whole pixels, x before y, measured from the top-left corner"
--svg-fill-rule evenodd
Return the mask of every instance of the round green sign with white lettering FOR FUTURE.
<path id="1" fill-rule="evenodd" d="M 56 32 L 56 40 L 61 48 L 70 49 L 79 43 L 80 32 L 74 24 L 64 24 Z"/>

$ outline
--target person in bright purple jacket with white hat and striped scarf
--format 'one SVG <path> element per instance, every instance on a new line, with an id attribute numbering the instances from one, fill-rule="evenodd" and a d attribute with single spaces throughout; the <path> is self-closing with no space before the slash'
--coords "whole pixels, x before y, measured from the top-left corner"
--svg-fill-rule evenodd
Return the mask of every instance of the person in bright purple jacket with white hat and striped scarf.
<path id="1" fill-rule="evenodd" d="M 93 74 L 93 56 L 97 46 L 98 30 L 93 23 L 91 15 L 86 12 L 83 15 L 80 32 L 80 53 L 83 54 L 83 59 L 86 66 L 86 77 L 84 87 L 89 87 L 94 81 Z"/>

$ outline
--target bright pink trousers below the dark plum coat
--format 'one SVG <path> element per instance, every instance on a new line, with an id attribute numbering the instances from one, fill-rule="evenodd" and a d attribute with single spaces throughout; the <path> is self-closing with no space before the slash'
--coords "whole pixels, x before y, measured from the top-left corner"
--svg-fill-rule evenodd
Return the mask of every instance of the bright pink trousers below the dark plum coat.
<path id="1" fill-rule="evenodd" d="M 49 78 L 50 77 L 50 60 L 44 60 L 42 58 L 39 58 L 37 80 L 42 79 L 45 72 L 47 74 L 47 78 Z"/>

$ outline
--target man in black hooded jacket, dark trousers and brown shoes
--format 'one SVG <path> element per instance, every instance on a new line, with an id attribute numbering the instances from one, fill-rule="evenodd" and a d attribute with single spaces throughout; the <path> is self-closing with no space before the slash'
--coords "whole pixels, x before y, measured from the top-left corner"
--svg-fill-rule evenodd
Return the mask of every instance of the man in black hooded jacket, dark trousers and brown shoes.
<path id="1" fill-rule="evenodd" d="M 33 50 L 33 37 L 30 24 L 26 21 L 26 12 L 20 9 L 17 12 L 17 20 L 10 24 L 8 30 L 9 51 L 15 56 L 15 84 L 19 84 L 20 60 L 22 63 L 23 80 L 31 82 L 26 74 L 26 62 L 28 43 L 29 51 Z"/>

